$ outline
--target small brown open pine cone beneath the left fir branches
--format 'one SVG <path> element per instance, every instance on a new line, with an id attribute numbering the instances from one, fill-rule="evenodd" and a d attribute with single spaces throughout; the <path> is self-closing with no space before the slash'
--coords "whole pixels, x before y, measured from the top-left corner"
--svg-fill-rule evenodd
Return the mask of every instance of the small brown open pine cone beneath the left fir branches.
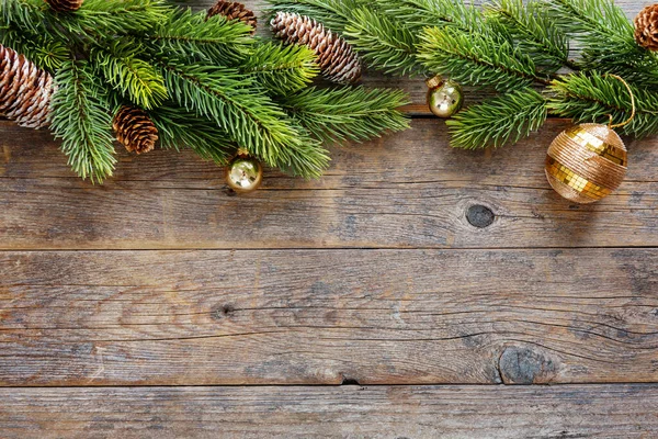
<path id="1" fill-rule="evenodd" d="M 122 106 L 112 122 L 116 139 L 131 153 L 150 153 L 158 142 L 158 128 L 144 110 Z"/>

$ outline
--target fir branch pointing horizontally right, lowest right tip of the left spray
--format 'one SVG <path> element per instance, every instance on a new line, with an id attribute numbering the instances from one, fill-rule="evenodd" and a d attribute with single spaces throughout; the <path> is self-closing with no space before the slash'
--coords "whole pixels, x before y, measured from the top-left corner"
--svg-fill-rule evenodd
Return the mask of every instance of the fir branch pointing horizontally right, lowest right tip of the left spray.
<path id="1" fill-rule="evenodd" d="M 322 142 L 363 142 L 384 132 L 404 131 L 409 121 L 399 112 L 407 104 L 401 91 L 309 88 L 282 99 L 282 105 Z"/>

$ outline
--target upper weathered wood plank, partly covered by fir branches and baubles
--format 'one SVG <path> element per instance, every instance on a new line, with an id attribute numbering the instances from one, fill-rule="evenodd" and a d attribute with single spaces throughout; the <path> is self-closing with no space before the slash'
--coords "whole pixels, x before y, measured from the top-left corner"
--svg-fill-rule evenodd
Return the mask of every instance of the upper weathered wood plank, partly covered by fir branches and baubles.
<path id="1" fill-rule="evenodd" d="M 454 150 L 442 122 L 334 149 L 328 175 L 269 173 L 251 196 L 229 196 L 223 172 L 192 154 L 122 154 L 114 180 L 76 178 L 48 135 L 0 124 L 0 248 L 601 247 L 658 246 L 658 139 L 632 142 L 621 190 L 569 205 L 544 158 L 567 126 L 496 151 Z M 486 228 L 466 213 L 484 205 Z"/>

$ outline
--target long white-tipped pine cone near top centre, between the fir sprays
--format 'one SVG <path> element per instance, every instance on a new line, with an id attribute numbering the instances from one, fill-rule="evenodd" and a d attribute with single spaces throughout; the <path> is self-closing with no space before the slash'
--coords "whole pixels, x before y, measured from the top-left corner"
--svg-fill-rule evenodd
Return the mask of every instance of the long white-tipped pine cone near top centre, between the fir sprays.
<path id="1" fill-rule="evenodd" d="M 339 83 L 361 79 L 361 61 L 352 46 L 315 20 L 291 12 L 279 12 L 272 19 L 272 32 L 288 44 L 304 44 L 318 55 L 325 78 Z"/>

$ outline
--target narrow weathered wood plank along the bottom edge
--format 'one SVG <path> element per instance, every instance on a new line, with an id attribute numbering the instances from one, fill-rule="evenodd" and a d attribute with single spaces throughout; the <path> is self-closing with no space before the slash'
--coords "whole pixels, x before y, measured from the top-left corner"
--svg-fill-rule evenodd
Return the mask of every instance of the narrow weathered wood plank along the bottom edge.
<path id="1" fill-rule="evenodd" d="M 654 438 L 658 386 L 0 390 L 7 439 Z"/>

